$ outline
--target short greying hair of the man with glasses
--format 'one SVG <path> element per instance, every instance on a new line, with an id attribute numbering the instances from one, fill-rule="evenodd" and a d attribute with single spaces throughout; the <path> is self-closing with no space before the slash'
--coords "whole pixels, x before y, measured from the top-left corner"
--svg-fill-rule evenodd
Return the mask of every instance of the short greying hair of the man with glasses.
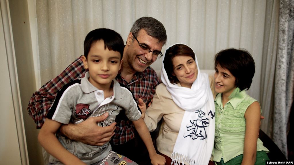
<path id="1" fill-rule="evenodd" d="M 157 19 L 152 17 L 141 17 L 137 19 L 131 28 L 133 36 L 137 37 L 142 28 L 149 36 L 156 38 L 163 45 L 166 44 L 166 30 L 163 24 Z"/>

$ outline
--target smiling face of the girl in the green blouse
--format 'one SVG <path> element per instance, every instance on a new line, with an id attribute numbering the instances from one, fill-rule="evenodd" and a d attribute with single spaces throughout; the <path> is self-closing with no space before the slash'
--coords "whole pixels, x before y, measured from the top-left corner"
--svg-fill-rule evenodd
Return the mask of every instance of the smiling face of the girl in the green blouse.
<path id="1" fill-rule="evenodd" d="M 216 92 L 230 96 L 236 88 L 235 80 L 235 76 L 229 70 L 222 68 L 219 64 L 216 66 L 216 73 L 214 73 L 214 89 Z"/>

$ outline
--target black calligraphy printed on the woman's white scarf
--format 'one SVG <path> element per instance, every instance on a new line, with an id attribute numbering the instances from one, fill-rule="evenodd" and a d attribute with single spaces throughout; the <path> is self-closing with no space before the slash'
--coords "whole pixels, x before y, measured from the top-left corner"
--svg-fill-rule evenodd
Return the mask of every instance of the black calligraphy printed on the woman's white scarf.
<path id="1" fill-rule="evenodd" d="M 200 140 L 206 139 L 206 127 L 209 126 L 209 119 L 206 118 L 205 112 L 201 109 L 196 110 L 195 113 L 198 115 L 198 118 L 193 121 L 190 120 L 190 123 L 187 124 L 187 133 L 184 134 L 184 137 L 191 137 L 193 140 L 198 138 Z M 210 111 L 208 116 L 211 116 L 211 119 L 213 119 L 215 115 Z"/>

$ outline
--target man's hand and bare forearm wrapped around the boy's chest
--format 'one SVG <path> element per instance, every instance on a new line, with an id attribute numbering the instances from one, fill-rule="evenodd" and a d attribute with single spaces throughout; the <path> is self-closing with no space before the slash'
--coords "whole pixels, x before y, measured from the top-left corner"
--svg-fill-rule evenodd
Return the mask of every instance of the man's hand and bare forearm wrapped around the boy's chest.
<path id="1" fill-rule="evenodd" d="M 108 112 L 98 117 L 90 117 L 79 124 L 67 124 L 60 127 L 60 132 L 69 139 L 77 140 L 92 146 L 102 146 L 108 142 L 116 129 L 116 122 L 107 127 L 100 127 L 96 123 L 105 120 Z"/>

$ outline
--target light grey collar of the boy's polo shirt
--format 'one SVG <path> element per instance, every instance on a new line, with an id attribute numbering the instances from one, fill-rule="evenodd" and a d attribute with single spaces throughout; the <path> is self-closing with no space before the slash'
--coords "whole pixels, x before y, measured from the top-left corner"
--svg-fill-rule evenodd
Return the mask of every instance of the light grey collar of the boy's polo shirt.
<path id="1" fill-rule="evenodd" d="M 81 79 L 81 88 L 82 88 L 82 91 L 85 93 L 91 93 L 96 90 L 99 90 L 98 88 L 96 88 L 94 85 L 92 85 L 89 82 L 88 80 L 89 76 L 90 76 L 89 72 L 86 72 L 85 77 Z M 113 87 L 113 96 L 116 99 L 121 99 L 122 98 L 121 85 L 116 80 L 112 80 L 112 87 Z"/>

